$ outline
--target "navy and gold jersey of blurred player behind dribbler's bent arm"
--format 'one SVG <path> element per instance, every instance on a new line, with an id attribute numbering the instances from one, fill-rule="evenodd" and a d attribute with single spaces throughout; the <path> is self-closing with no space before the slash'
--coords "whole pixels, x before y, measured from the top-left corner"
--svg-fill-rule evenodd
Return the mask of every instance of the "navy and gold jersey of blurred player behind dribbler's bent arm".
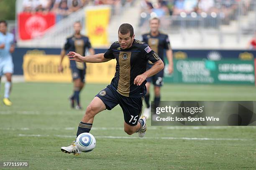
<path id="1" fill-rule="evenodd" d="M 171 49 L 168 35 L 159 32 L 159 34 L 154 37 L 150 33 L 146 33 L 142 35 L 142 39 L 142 41 L 146 42 L 151 47 L 151 49 L 159 55 L 161 60 L 164 61 L 164 49 Z"/>

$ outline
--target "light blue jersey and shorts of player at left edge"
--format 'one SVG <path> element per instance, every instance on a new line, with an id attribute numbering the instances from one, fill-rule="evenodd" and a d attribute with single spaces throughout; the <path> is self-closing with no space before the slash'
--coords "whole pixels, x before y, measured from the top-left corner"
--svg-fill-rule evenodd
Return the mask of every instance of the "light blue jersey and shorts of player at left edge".
<path id="1" fill-rule="evenodd" d="M 10 47 L 13 44 L 14 36 L 7 32 L 4 35 L 0 32 L 0 45 L 5 44 L 4 49 L 0 49 L 0 76 L 9 72 L 13 73 L 13 59 L 10 54 Z"/>

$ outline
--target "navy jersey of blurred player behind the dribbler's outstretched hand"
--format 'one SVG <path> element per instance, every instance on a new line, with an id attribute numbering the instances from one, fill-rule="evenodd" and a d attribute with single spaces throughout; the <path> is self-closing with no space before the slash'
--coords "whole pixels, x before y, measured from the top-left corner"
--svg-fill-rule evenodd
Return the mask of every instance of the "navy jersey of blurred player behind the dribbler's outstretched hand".
<path id="1" fill-rule="evenodd" d="M 69 53 L 70 51 L 74 51 L 84 56 L 85 49 L 91 47 L 92 45 L 88 37 L 82 35 L 80 38 L 77 38 L 72 35 L 71 37 L 67 38 L 64 45 L 64 50 L 66 50 L 67 53 Z M 74 60 L 70 60 L 70 67 L 77 67 L 77 69 L 83 70 L 86 68 L 86 65 L 85 62 L 76 62 Z"/>

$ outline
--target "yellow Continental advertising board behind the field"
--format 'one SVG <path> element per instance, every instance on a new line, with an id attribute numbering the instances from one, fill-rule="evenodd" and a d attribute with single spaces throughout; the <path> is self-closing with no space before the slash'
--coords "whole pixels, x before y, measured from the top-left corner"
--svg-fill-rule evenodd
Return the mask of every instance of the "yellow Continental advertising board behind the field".
<path id="1" fill-rule="evenodd" d="M 28 82 L 72 82 L 68 57 L 63 60 L 63 72 L 58 72 L 60 55 L 26 54 L 23 57 L 23 72 Z M 115 75 L 115 60 L 102 63 L 87 63 L 86 82 L 110 83 Z"/>

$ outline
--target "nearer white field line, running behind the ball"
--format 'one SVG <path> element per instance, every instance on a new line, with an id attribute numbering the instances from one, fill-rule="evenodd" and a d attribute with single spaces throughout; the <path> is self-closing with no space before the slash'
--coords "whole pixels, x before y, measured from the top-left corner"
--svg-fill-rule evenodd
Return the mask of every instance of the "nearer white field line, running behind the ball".
<path id="1" fill-rule="evenodd" d="M 49 135 L 25 135 L 19 134 L 19 137 L 49 137 Z M 54 137 L 59 138 L 75 138 L 73 135 L 54 135 Z M 105 138 L 105 139 L 165 139 L 165 140 L 252 140 L 252 139 L 238 139 L 238 138 L 175 138 L 175 137 L 134 137 L 134 136 L 95 136 L 95 138 Z"/>

